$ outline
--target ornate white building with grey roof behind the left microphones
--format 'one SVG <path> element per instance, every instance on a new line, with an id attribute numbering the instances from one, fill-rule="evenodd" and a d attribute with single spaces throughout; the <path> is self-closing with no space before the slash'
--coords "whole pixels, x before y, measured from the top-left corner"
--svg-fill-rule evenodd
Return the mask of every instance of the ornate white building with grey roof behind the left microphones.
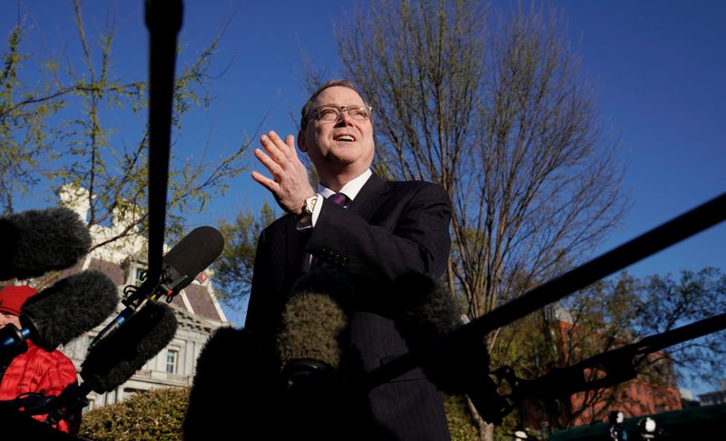
<path id="1" fill-rule="evenodd" d="M 64 186 L 59 191 L 59 196 L 64 206 L 78 212 L 83 219 L 86 219 L 88 198 L 83 197 L 84 191 L 84 189 Z M 102 243 L 103 240 L 115 236 L 122 228 L 123 219 L 114 219 L 111 227 L 93 226 L 91 228 L 93 243 Z M 108 246 L 93 250 L 74 269 L 69 271 L 102 271 L 119 287 L 119 299 L 121 299 L 124 287 L 138 284 L 142 271 L 146 268 L 146 255 L 145 240 L 134 235 L 123 240 L 115 240 Z M 191 386 L 196 360 L 207 338 L 215 328 L 230 326 L 214 295 L 210 282 L 211 274 L 205 271 L 204 276 L 203 278 L 198 277 L 191 285 L 182 289 L 169 304 L 178 322 L 176 335 L 169 346 L 162 349 L 126 383 L 112 392 L 103 395 L 92 392 L 88 396 L 89 409 L 113 404 L 133 393 L 149 390 L 152 387 Z M 163 299 L 159 301 L 163 301 Z M 122 309 L 123 304 L 119 303 L 116 312 L 118 313 Z M 87 335 L 76 338 L 61 348 L 64 354 L 74 361 L 77 371 L 81 370 L 88 344 L 113 317 L 115 315 L 106 319 L 103 325 L 88 332 Z M 79 377 L 79 382 L 81 381 Z"/>

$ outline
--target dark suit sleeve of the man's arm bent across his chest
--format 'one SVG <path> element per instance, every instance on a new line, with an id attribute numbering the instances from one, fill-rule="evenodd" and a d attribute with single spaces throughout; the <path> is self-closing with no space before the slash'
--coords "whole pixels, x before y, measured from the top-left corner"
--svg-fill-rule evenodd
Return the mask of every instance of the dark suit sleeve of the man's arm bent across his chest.
<path id="1" fill-rule="evenodd" d="M 386 283 L 411 270 L 440 277 L 451 247 L 451 203 L 441 187 L 417 182 L 381 222 L 368 222 L 333 203 L 322 206 L 307 250 L 349 275 Z M 375 220 L 375 219 L 374 219 Z"/>

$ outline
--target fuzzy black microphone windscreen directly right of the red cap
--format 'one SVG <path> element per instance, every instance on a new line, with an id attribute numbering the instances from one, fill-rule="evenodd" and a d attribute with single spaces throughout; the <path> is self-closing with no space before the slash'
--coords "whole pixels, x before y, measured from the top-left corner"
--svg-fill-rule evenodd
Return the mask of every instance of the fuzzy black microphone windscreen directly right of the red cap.
<path id="1" fill-rule="evenodd" d="M 43 289 L 25 302 L 21 323 L 36 346 L 53 350 L 103 323 L 116 309 L 118 289 L 100 271 L 83 271 Z"/>

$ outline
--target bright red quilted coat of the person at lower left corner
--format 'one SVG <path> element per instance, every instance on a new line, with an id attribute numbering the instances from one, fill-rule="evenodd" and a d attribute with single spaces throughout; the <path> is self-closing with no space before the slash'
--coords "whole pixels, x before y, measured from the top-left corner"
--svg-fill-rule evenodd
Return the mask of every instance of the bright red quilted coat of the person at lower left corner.
<path id="1" fill-rule="evenodd" d="M 35 346 L 28 340 L 28 350 L 13 358 L 0 381 L 0 401 L 14 399 L 26 392 L 44 391 L 44 395 L 58 396 L 63 389 L 76 384 L 73 361 L 59 350 L 48 352 Z M 44 421 L 44 415 L 36 415 L 35 419 Z M 81 426 L 81 416 L 77 415 L 69 424 L 61 421 L 58 429 L 77 434 Z"/>

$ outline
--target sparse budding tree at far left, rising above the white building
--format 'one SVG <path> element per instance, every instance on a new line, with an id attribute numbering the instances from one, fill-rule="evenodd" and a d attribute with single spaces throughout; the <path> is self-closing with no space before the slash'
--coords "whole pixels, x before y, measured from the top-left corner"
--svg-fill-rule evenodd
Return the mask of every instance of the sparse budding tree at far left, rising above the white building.
<path id="1" fill-rule="evenodd" d="M 69 46 L 71 54 L 64 64 L 57 60 L 43 64 L 41 86 L 28 85 L 19 75 L 32 62 L 40 63 L 23 54 L 22 25 L 10 35 L 0 78 L 0 136 L 4 143 L 0 198 L 5 212 L 13 211 L 13 198 L 37 184 L 36 171 L 41 170 L 50 188 L 67 185 L 74 202 L 88 207 L 89 227 L 123 226 L 93 244 L 98 248 L 146 231 L 148 127 L 142 121 L 147 111 L 147 83 L 145 78 L 127 80 L 114 69 L 113 21 L 107 22 L 97 38 L 88 38 L 80 2 L 76 0 L 73 5 L 69 13 L 74 14 L 78 44 Z M 221 35 L 191 63 L 177 69 L 174 140 L 183 131 L 184 117 L 211 103 L 209 70 L 219 38 Z M 112 120 L 109 115 L 113 119 L 127 116 L 136 125 L 132 130 L 124 127 L 123 137 L 117 136 L 118 128 L 104 122 Z M 230 155 L 213 162 L 180 158 L 172 148 L 167 193 L 169 239 L 182 232 L 182 213 L 203 210 L 212 196 L 227 190 L 231 177 L 244 170 L 242 154 L 249 144 L 245 140 Z M 42 169 L 39 160 L 44 160 Z"/>

